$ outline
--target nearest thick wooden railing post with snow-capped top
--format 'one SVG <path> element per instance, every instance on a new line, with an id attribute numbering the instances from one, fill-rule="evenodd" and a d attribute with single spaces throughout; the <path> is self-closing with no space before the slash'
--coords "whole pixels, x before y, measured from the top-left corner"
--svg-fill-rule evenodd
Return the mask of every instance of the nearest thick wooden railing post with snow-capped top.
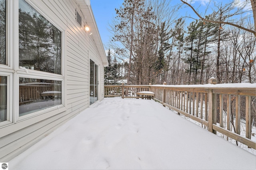
<path id="1" fill-rule="evenodd" d="M 212 77 L 209 79 L 209 84 L 216 84 L 217 79 Z M 217 119 L 217 105 L 216 105 L 216 94 L 213 94 L 213 90 L 208 90 L 208 106 L 209 106 L 209 112 L 208 112 L 208 131 L 216 134 L 217 132 L 213 130 L 212 124 L 216 124 Z"/>

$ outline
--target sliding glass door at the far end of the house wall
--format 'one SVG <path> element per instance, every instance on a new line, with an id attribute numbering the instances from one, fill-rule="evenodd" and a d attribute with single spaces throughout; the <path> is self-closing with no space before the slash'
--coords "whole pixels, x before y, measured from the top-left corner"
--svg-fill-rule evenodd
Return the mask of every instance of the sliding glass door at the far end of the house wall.
<path id="1" fill-rule="evenodd" d="M 98 65 L 90 60 L 90 105 L 98 100 Z"/>

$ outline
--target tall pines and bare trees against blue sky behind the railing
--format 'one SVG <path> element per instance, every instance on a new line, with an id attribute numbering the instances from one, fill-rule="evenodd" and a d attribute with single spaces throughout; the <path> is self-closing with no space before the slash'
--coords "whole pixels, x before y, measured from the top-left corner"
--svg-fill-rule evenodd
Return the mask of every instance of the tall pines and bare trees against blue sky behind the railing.
<path id="1" fill-rule="evenodd" d="M 207 84 L 212 76 L 218 83 L 256 82 L 255 35 L 224 24 L 236 21 L 255 30 L 248 19 L 252 10 L 235 2 L 219 3 L 203 19 L 188 20 L 179 15 L 184 4 L 172 4 L 171 0 L 124 0 L 116 9 L 108 44 L 114 51 L 109 50 L 108 58 L 114 62 L 105 72 L 109 77 L 127 79 L 128 84 Z M 234 18 L 238 14 L 241 17 Z"/>

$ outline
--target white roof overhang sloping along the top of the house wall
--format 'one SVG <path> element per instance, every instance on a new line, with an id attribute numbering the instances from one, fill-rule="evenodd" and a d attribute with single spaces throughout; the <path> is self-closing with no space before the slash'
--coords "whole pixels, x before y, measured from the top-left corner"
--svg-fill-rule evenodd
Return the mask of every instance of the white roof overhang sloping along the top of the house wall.
<path id="1" fill-rule="evenodd" d="M 90 6 L 90 0 L 76 0 L 76 2 L 79 4 L 80 9 L 82 10 L 84 18 L 86 19 L 86 23 L 88 24 L 88 27 L 90 27 L 90 31 L 92 32 L 92 35 L 90 36 L 92 36 L 92 39 L 96 44 L 96 47 L 100 54 L 100 58 L 102 59 L 102 62 L 103 62 L 103 66 L 108 66 L 108 59 L 106 57 L 106 53 L 102 44 L 100 33 L 92 12 L 92 7 Z"/>

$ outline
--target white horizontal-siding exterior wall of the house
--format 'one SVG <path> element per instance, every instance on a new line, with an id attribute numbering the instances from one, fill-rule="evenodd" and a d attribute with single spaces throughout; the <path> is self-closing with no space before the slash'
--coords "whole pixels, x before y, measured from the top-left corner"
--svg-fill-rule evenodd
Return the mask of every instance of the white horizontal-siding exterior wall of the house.
<path id="1" fill-rule="evenodd" d="M 14 39 L 9 41 L 7 48 L 13 46 L 13 51 L 12 49 L 10 51 L 17 55 L 15 51 L 18 49 L 18 38 L 16 38 L 18 37 L 18 30 L 12 29 L 12 27 L 18 27 L 18 0 L 7 2 L 7 9 L 14 10 L 13 16 L 9 15 L 13 17 L 13 25 L 10 24 L 7 29 L 9 32 L 13 30 L 13 33 L 10 33 L 10 37 L 14 37 Z M 84 30 L 86 18 L 83 17 L 83 10 L 80 9 L 80 6 L 84 4 L 79 3 L 85 3 L 85 1 L 26 0 L 26 2 L 62 31 L 62 75 L 56 76 L 56 79 L 63 81 L 63 103 L 58 107 L 45 109 L 40 114 L 28 114 L 24 119 L 20 119 L 17 110 L 18 97 L 15 96 L 18 94 L 18 88 L 14 84 L 18 82 L 16 74 L 26 75 L 26 72 L 18 68 L 18 64 L 12 57 L 9 57 L 10 67 L 0 65 L 0 71 L 7 70 L 8 75 L 10 74 L 9 84 L 11 85 L 10 92 L 8 92 L 10 96 L 8 98 L 10 103 L 8 105 L 10 113 L 8 114 L 10 118 L 4 123 L 0 123 L 0 162 L 8 162 L 8 160 L 14 158 L 64 122 L 89 107 L 90 59 L 99 66 L 98 93 L 99 99 L 104 99 L 104 62 L 102 58 L 106 56 L 100 55 L 102 51 L 99 52 L 99 47 L 95 43 L 97 37 L 89 35 Z M 76 10 L 82 16 L 82 27 L 76 21 Z M 88 10 L 91 10 L 90 6 Z M 93 16 L 88 16 L 88 18 L 94 20 Z M 46 73 L 42 74 L 47 77 Z"/>

